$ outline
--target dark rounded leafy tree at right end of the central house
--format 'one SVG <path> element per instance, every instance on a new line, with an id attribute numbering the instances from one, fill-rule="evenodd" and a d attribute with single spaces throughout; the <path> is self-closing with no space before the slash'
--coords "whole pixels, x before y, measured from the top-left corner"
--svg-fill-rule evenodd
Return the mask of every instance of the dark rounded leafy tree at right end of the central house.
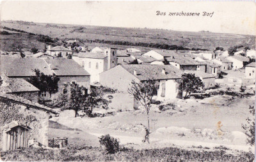
<path id="1" fill-rule="evenodd" d="M 187 97 L 187 94 L 191 94 L 191 92 L 198 92 L 203 87 L 203 82 L 199 77 L 196 77 L 195 74 L 192 73 L 184 73 L 182 74 L 182 82 L 179 84 L 179 89 L 186 92 L 184 98 Z"/>

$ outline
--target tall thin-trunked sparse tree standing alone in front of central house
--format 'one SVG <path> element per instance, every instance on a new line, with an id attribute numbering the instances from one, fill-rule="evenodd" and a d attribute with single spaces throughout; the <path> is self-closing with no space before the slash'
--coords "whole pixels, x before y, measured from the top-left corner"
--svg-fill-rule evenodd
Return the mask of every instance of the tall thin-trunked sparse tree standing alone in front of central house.
<path id="1" fill-rule="evenodd" d="M 130 84 L 130 88 L 128 89 L 129 94 L 132 94 L 134 96 L 134 98 L 140 102 L 140 105 L 142 105 L 147 112 L 148 129 L 146 129 L 146 131 L 148 131 L 148 132 L 150 129 L 148 114 L 150 111 L 154 92 L 156 92 L 156 91 L 157 91 L 157 89 L 156 89 L 155 80 L 146 80 L 146 81 L 140 82 L 140 83 L 137 83 L 134 80 L 132 80 L 132 82 Z M 148 133 L 148 135 L 149 135 L 149 133 Z M 147 136 L 147 138 L 148 138 L 148 136 Z M 148 141 L 148 139 L 145 139 L 144 142 L 146 140 Z M 149 141 L 148 141 L 148 144 L 149 144 Z"/>

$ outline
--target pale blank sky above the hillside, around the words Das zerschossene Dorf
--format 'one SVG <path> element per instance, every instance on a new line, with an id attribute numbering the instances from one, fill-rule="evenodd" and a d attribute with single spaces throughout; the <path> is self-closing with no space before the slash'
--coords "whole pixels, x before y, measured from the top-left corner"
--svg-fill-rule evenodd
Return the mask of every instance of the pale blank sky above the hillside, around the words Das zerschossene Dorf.
<path id="1" fill-rule="evenodd" d="M 157 15 L 157 11 L 166 15 Z M 200 16 L 169 16 L 170 12 Z M 212 17 L 202 16 L 203 12 Z M 245 1 L 1 1 L 1 20 L 175 31 L 256 34 L 256 5 Z"/>

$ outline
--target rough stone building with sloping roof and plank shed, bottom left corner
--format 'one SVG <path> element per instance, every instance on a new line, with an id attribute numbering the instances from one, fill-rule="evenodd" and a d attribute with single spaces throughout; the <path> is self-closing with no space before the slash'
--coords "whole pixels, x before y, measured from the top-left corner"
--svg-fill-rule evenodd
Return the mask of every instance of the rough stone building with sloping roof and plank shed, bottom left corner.
<path id="1" fill-rule="evenodd" d="M 0 149 L 48 147 L 49 117 L 58 112 L 28 99 L 0 92 Z"/>

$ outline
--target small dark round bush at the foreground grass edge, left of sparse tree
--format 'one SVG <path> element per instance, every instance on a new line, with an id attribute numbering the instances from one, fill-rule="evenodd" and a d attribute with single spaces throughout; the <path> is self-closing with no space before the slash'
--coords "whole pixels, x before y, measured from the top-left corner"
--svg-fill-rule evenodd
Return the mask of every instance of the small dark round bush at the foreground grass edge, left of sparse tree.
<path id="1" fill-rule="evenodd" d="M 120 142 L 110 135 L 101 136 L 99 142 L 100 145 L 105 147 L 105 151 L 107 151 L 108 154 L 115 154 L 115 152 L 119 151 Z"/>

